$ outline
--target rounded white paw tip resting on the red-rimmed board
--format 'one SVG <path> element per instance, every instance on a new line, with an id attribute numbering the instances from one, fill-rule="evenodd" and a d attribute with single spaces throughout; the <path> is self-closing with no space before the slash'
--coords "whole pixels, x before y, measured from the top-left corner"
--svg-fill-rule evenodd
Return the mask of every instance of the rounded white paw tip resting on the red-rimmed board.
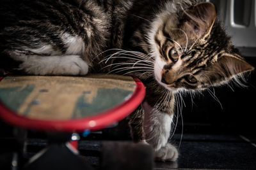
<path id="1" fill-rule="evenodd" d="M 85 75 L 88 73 L 88 64 L 78 55 L 62 56 L 53 74 L 61 75 Z"/>

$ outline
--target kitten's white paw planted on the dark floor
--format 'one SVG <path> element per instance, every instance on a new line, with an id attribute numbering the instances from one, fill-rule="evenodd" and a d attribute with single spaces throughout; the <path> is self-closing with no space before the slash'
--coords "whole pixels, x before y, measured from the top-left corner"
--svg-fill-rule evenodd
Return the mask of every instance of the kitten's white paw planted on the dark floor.
<path id="1" fill-rule="evenodd" d="M 155 157 L 158 161 L 176 161 L 179 157 L 177 148 L 170 143 L 155 151 Z"/>

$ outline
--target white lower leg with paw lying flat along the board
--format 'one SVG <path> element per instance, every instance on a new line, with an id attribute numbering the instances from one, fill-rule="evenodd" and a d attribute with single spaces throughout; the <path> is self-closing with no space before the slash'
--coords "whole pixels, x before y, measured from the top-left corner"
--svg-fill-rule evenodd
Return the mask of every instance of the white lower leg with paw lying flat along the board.
<path id="1" fill-rule="evenodd" d="M 17 57 L 16 57 L 17 59 Z M 88 64 L 79 55 L 19 56 L 19 69 L 36 75 L 85 75 Z"/>

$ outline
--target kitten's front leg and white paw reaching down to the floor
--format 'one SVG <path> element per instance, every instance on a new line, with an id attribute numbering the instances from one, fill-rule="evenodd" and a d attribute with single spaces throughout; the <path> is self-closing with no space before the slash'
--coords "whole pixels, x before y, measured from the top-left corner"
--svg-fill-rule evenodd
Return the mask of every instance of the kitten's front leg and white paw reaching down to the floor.
<path id="1" fill-rule="evenodd" d="M 143 103 L 145 139 L 153 146 L 157 160 L 175 161 L 178 151 L 175 146 L 168 143 L 172 127 L 173 114 L 163 113 L 152 108 L 147 102 Z"/>

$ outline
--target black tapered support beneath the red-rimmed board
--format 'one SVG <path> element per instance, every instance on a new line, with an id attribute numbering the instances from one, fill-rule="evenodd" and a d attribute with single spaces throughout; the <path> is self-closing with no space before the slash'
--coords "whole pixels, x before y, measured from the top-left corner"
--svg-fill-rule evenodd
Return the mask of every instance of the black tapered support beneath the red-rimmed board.
<path id="1" fill-rule="evenodd" d="M 77 148 L 69 142 L 70 137 L 76 134 L 49 133 L 47 136 L 49 146 L 31 157 L 24 170 L 93 170 L 92 166 L 79 156 Z M 77 140 L 74 143 L 77 143 Z"/>

